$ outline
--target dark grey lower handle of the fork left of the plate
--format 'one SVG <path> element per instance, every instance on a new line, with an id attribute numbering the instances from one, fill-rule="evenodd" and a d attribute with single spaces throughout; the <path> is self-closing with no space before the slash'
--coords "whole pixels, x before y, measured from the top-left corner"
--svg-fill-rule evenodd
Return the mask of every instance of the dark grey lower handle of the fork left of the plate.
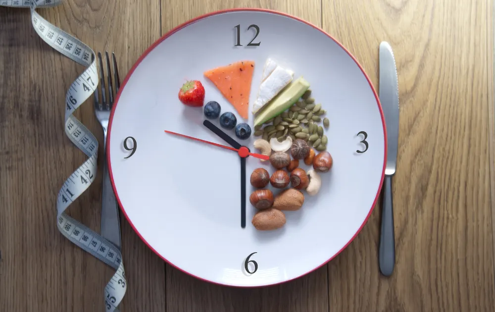
<path id="1" fill-rule="evenodd" d="M 120 240 L 120 219 L 119 208 L 115 200 L 110 175 L 106 165 L 106 148 L 103 161 L 103 183 L 102 183 L 102 207 L 101 207 L 101 236 L 112 242 L 119 250 Z"/>

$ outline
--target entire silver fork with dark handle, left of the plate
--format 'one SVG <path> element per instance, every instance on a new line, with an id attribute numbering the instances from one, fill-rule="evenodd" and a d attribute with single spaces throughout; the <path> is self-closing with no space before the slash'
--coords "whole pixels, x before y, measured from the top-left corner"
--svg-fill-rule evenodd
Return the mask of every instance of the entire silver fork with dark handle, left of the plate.
<path id="1" fill-rule="evenodd" d="M 108 119 L 110 118 L 110 110 L 113 105 L 113 85 L 112 76 L 110 74 L 110 58 L 108 52 L 105 51 L 106 56 L 106 71 L 108 81 L 108 98 L 105 88 L 105 75 L 103 73 L 103 61 L 101 59 L 101 53 L 98 52 L 99 58 L 99 81 L 101 85 L 101 101 L 99 101 L 98 88 L 95 90 L 95 115 L 103 128 L 103 183 L 102 183 L 102 203 L 101 203 L 101 236 L 112 242 L 120 251 L 120 219 L 119 208 L 117 201 L 115 200 L 115 194 L 112 190 L 110 183 L 110 176 L 108 175 L 108 168 L 106 166 L 106 133 L 108 129 Z M 112 52 L 113 59 L 113 76 L 115 80 L 115 94 L 120 88 L 120 79 L 117 69 L 117 61 L 115 60 L 115 53 Z M 107 101 L 108 99 L 108 101 Z"/>

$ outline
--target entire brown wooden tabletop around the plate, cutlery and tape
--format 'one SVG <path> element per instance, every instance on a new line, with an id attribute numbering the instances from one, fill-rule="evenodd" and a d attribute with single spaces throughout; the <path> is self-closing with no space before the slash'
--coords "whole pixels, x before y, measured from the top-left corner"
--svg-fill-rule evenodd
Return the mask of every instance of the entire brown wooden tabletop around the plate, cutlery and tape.
<path id="1" fill-rule="evenodd" d="M 38 11 L 95 51 L 114 51 L 124 76 L 176 25 L 229 7 L 275 9 L 321 27 L 376 87 L 378 45 L 391 43 L 400 93 L 395 272 L 379 273 L 379 208 L 329 264 L 248 290 L 166 265 L 122 218 L 120 310 L 495 311 L 492 1 L 65 0 Z M 38 37 L 29 9 L 0 7 L 0 311 L 103 310 L 113 270 L 55 225 L 61 183 L 86 160 L 62 130 L 65 93 L 82 70 Z M 92 103 L 75 116 L 101 143 Z M 101 161 L 100 149 L 94 185 L 69 208 L 98 232 Z"/>

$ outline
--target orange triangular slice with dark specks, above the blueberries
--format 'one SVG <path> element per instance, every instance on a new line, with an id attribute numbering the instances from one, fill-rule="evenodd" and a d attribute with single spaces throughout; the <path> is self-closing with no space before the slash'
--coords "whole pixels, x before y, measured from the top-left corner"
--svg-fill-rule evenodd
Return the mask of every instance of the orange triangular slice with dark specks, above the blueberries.
<path id="1" fill-rule="evenodd" d="M 234 106 L 239 115 L 247 119 L 253 72 L 254 61 L 244 60 L 207 70 L 203 74 Z"/>

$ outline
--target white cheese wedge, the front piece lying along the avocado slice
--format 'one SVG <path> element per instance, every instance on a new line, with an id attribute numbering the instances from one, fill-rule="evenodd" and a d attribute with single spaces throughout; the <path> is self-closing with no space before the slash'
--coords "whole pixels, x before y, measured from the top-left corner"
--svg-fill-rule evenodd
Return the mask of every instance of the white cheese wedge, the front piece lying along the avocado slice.
<path id="1" fill-rule="evenodd" d="M 277 65 L 259 86 L 256 101 L 252 105 L 252 113 L 255 114 L 270 102 L 293 78 L 294 72 L 292 70 L 287 70 Z"/>

